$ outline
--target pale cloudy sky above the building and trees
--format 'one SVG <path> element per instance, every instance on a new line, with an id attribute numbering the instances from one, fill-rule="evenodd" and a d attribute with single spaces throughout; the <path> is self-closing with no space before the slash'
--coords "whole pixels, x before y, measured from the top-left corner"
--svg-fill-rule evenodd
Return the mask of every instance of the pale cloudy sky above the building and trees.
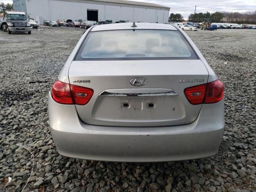
<path id="1" fill-rule="evenodd" d="M 180 13 L 187 19 L 191 13 L 194 13 L 195 8 L 190 6 L 202 6 L 212 8 L 229 8 L 229 9 L 240 9 L 240 10 L 223 10 L 223 9 L 210 9 L 197 7 L 196 12 L 216 12 L 216 11 L 227 11 L 227 12 L 254 12 L 256 11 L 256 0 L 212 0 L 212 2 L 206 2 L 206 0 L 131 0 L 159 4 L 170 7 L 170 13 Z M 12 0 L 0 0 L 0 3 L 12 3 Z M 190 7 L 180 8 L 179 7 Z M 250 10 L 254 9 L 254 10 Z"/>

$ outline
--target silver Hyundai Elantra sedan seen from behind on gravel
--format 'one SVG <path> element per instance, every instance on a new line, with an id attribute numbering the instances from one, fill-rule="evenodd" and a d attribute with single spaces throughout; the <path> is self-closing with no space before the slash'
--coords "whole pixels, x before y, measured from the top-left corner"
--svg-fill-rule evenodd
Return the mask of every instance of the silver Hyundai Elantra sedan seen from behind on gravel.
<path id="1" fill-rule="evenodd" d="M 86 30 L 48 94 L 57 151 L 119 162 L 216 154 L 224 86 L 191 42 L 166 24 Z"/>

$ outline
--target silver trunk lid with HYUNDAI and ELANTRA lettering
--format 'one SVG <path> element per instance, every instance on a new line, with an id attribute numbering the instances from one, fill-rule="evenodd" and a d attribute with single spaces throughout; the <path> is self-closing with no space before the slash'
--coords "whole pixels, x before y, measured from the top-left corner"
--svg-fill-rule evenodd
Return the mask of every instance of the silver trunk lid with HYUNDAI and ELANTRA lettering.
<path id="1" fill-rule="evenodd" d="M 134 78 L 147 83 L 133 86 Z M 190 104 L 184 89 L 207 83 L 208 71 L 201 60 L 73 61 L 69 80 L 94 90 L 76 105 L 87 124 L 172 126 L 196 120 L 202 104 Z"/>

